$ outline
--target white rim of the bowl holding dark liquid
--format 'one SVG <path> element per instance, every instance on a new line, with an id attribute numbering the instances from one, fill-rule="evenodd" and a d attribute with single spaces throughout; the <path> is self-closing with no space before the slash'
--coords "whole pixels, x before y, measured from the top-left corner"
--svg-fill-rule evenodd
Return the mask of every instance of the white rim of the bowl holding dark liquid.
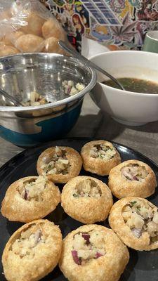
<path id="1" fill-rule="evenodd" d="M 158 53 L 152 53 L 152 52 L 147 52 L 147 51 L 135 51 L 135 50 L 120 50 L 120 51 L 105 51 L 105 52 L 102 52 L 102 53 L 98 53 L 98 54 L 96 54 L 96 55 L 91 55 L 91 57 L 90 58 L 88 58 L 89 60 L 92 60 L 93 58 L 97 58 L 97 57 L 100 57 L 100 56 L 102 56 L 102 55 L 112 55 L 112 53 L 119 53 L 119 54 L 121 54 L 121 53 L 132 53 L 132 54 L 138 54 L 138 53 L 140 53 L 140 55 L 152 55 L 152 56 L 157 56 L 158 57 Z M 143 97 L 143 96 L 145 96 L 145 97 L 156 97 L 156 96 L 158 96 L 158 93 L 138 93 L 138 92 L 131 92 L 131 91 L 126 91 L 126 90 L 121 90 L 121 89 L 117 89 L 117 88 L 114 88 L 114 87 L 111 87 L 111 86 L 107 86 L 106 84 L 103 84 L 103 82 L 99 82 L 99 81 L 97 81 L 97 83 L 98 84 L 101 84 L 102 86 L 104 86 L 105 87 L 105 89 L 107 88 L 107 89 L 114 89 L 114 90 L 117 90 L 117 91 L 119 91 L 119 93 L 121 93 L 121 94 L 128 94 L 128 95 L 130 95 L 130 96 L 139 96 L 139 97 Z M 158 82 L 157 82 L 157 84 L 158 84 Z"/>

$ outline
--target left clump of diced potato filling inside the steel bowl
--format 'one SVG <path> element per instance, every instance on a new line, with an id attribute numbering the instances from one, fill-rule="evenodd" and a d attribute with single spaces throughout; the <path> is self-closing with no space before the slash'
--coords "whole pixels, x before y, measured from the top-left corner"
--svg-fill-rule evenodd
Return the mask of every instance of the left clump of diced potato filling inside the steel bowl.
<path id="1" fill-rule="evenodd" d="M 44 96 L 41 96 L 37 92 L 31 92 L 29 96 L 29 100 L 27 102 L 22 102 L 23 106 L 35 106 L 35 105 L 45 105 L 48 103 Z"/>

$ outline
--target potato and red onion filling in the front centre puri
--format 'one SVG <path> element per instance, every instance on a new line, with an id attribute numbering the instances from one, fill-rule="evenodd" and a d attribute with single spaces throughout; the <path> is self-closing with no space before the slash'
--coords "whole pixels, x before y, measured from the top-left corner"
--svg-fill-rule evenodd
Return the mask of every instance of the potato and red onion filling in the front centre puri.
<path id="1" fill-rule="evenodd" d="M 105 253 L 105 240 L 98 231 L 91 230 L 88 233 L 74 235 L 72 257 L 78 265 L 84 265 L 91 259 L 98 259 Z"/>

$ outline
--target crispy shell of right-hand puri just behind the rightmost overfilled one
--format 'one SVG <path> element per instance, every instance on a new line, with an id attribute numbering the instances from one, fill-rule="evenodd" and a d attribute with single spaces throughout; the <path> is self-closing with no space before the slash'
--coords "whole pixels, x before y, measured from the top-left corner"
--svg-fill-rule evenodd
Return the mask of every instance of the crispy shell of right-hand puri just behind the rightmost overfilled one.
<path id="1" fill-rule="evenodd" d="M 121 169 L 128 164 L 145 166 L 148 173 L 145 179 L 143 181 L 128 181 L 121 176 Z M 130 196 L 146 198 L 154 193 L 155 188 L 157 187 L 157 180 L 154 171 L 152 171 L 150 166 L 138 160 L 127 160 L 110 171 L 108 186 L 112 191 L 112 194 L 117 198 Z"/>

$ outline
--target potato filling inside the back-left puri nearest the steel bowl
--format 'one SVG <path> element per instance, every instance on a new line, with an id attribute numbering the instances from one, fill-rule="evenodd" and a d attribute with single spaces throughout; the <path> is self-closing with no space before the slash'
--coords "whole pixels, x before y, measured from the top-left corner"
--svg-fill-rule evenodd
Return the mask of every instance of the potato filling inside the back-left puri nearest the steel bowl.
<path id="1" fill-rule="evenodd" d="M 53 157 L 51 157 L 51 159 L 45 159 L 41 169 L 43 169 L 44 176 L 46 176 L 46 174 L 68 174 L 70 171 L 70 161 L 67 159 L 66 151 L 56 147 Z"/>

